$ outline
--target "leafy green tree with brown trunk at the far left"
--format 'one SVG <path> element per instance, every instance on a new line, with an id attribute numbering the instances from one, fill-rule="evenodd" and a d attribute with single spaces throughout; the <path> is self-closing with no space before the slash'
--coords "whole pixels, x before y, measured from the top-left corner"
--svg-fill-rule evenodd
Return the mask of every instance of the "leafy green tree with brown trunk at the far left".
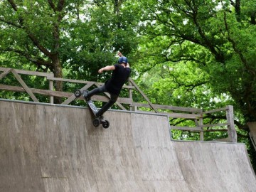
<path id="1" fill-rule="evenodd" d="M 26 58 L 37 68 L 49 69 L 55 77 L 62 78 L 59 50 L 66 15 L 62 0 L 1 2 L 1 53 Z M 56 83 L 56 90 L 62 90 L 60 82 Z"/>

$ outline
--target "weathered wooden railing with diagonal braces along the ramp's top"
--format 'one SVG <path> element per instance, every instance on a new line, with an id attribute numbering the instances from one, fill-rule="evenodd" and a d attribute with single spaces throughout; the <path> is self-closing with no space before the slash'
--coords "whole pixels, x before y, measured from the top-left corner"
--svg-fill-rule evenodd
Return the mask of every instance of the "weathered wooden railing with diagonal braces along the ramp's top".
<path id="1" fill-rule="evenodd" d="M 49 97 L 49 102 L 53 104 L 54 97 L 62 97 L 65 98 L 62 105 L 70 105 L 70 102 L 76 99 L 73 92 L 60 92 L 55 91 L 54 89 L 54 82 L 61 81 L 61 82 L 69 82 L 75 84 L 81 84 L 80 90 L 87 90 L 91 87 L 100 87 L 102 85 L 101 82 L 92 82 L 92 81 L 85 81 L 85 80 L 71 80 L 65 78 L 54 78 L 53 73 L 40 73 L 34 72 L 29 70 L 17 70 L 14 68 L 0 68 L 0 90 L 12 91 L 12 92 L 27 92 L 28 95 L 34 102 L 40 102 L 35 94 L 38 95 L 45 95 Z M 20 83 L 21 86 L 14 86 L 14 85 L 4 85 L 2 84 L 2 79 L 7 78 L 7 75 L 14 75 L 16 80 Z M 28 87 L 26 82 L 21 78 L 21 75 L 33 75 L 37 77 L 45 78 L 48 81 L 48 90 L 37 89 L 36 87 Z M 140 111 L 141 109 L 145 110 L 148 108 L 149 110 L 153 110 L 156 113 L 165 113 L 168 114 L 170 119 L 192 119 L 196 127 L 178 127 L 171 125 L 171 129 L 178 129 L 183 131 L 189 132 L 199 132 L 200 133 L 200 140 L 203 141 L 203 133 L 205 132 L 205 127 L 227 127 L 228 138 L 221 139 L 220 141 L 225 142 L 237 142 L 237 134 L 235 131 L 234 126 L 234 119 L 233 119 L 233 106 L 223 107 L 217 110 L 210 110 L 203 112 L 201 109 L 192 108 L 192 107 L 176 107 L 176 106 L 169 106 L 169 105 L 155 105 L 152 104 L 148 97 L 139 89 L 136 83 L 130 78 L 129 85 L 124 85 L 124 89 L 128 89 L 129 97 L 119 97 L 116 105 L 121 110 L 127 110 L 127 107 L 124 105 L 129 105 L 129 110 Z M 140 95 L 144 98 L 145 102 L 134 102 L 133 100 L 133 92 L 137 91 Z M 105 96 L 102 95 L 94 95 L 92 96 L 92 100 L 94 101 L 101 101 L 107 102 L 110 98 L 110 95 L 105 92 Z M 82 100 L 82 97 L 78 98 Z M 163 112 L 166 111 L 166 112 Z M 223 124 L 203 124 L 203 118 L 206 114 L 212 114 L 214 112 L 225 111 L 226 113 L 226 122 Z"/>

